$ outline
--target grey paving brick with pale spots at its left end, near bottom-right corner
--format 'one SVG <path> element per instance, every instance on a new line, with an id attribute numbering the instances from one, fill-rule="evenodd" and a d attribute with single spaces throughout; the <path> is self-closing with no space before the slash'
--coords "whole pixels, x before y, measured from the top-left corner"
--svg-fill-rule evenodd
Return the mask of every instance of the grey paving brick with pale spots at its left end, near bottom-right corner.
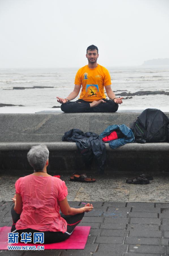
<path id="1" fill-rule="evenodd" d="M 150 253 L 152 256 L 156 253 L 165 253 L 164 246 L 158 245 L 129 245 L 129 253 Z"/>

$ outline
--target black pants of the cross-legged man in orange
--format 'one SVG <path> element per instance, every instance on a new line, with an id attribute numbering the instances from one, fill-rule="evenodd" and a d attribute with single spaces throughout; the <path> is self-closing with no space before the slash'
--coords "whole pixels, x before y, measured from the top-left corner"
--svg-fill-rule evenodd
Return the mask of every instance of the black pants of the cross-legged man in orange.
<path id="1" fill-rule="evenodd" d="M 105 112 L 112 113 L 118 110 L 119 105 L 116 104 L 113 100 L 102 99 L 106 103 L 102 102 L 98 106 L 91 108 L 89 101 L 82 99 L 76 101 L 70 101 L 64 104 L 61 104 L 61 110 L 65 113 L 82 113 L 82 112 Z M 80 103 L 79 103 L 80 102 Z"/>

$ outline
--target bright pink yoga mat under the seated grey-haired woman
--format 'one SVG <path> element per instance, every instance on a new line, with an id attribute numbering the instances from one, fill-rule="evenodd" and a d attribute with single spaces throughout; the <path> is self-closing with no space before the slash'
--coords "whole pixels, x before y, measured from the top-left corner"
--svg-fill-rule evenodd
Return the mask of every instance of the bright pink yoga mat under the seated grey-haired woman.
<path id="1" fill-rule="evenodd" d="M 87 238 L 90 232 L 88 226 L 76 226 L 71 236 L 60 243 L 8 243 L 8 233 L 10 233 L 11 227 L 0 228 L 0 250 L 8 250 L 9 245 L 44 245 L 44 249 L 84 249 L 87 242 Z"/>

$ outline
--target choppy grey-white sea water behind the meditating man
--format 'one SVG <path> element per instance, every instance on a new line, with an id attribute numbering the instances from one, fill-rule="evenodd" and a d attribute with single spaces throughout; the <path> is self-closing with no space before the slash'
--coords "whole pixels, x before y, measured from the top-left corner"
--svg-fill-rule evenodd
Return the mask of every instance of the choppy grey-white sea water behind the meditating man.
<path id="1" fill-rule="evenodd" d="M 110 72 L 112 90 L 118 97 L 121 96 L 122 92 L 169 92 L 168 66 L 106 68 Z M 78 68 L 0 69 L 0 103 L 44 110 L 53 106 L 60 106 L 56 96 L 66 98 L 70 94 L 74 88 L 77 70 Z M 33 88 L 34 86 L 38 86 L 38 88 Z M 14 87 L 23 88 L 18 90 Z M 77 99 L 78 97 L 75 100 Z M 4 108 L 7 110 L 9 107 Z M 169 95 L 132 96 L 131 99 L 124 99 L 123 104 L 119 106 L 121 110 L 144 110 L 146 108 L 158 108 L 169 112 Z"/>

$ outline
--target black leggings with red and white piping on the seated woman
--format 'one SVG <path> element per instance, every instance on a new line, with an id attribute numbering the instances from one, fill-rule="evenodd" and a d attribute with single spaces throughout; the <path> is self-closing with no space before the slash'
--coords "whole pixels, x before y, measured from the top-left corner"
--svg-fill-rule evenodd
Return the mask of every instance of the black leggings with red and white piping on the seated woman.
<path id="1" fill-rule="evenodd" d="M 19 233 L 19 237 L 18 237 L 19 241 L 21 239 L 20 234 L 22 232 L 31 233 L 32 243 L 33 243 L 33 233 L 34 232 L 40 232 L 40 233 L 43 232 L 44 233 L 44 243 L 57 243 L 57 242 L 64 241 L 67 238 L 69 238 L 69 236 L 73 232 L 74 228 L 80 223 L 80 221 L 84 217 L 84 212 L 76 214 L 76 215 L 64 215 L 63 213 L 61 213 L 61 217 L 64 218 L 67 222 L 67 231 L 65 233 L 62 233 L 62 232 L 57 232 L 57 231 L 56 232 L 53 232 L 53 231 L 39 231 L 39 230 L 31 229 L 31 228 L 16 230 L 15 224 L 20 219 L 20 214 L 16 213 L 16 211 L 14 210 L 14 205 L 11 208 L 11 214 L 12 214 L 12 220 L 13 220 L 13 225 L 12 225 L 12 228 L 11 228 L 11 232 L 13 232 L 13 233 L 18 232 Z"/>

